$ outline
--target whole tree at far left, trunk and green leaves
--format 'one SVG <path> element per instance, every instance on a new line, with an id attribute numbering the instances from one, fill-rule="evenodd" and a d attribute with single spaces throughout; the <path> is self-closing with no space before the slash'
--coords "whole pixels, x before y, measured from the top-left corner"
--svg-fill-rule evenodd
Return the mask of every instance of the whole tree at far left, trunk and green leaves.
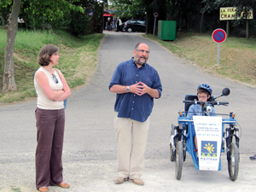
<path id="1" fill-rule="evenodd" d="M 49 22 L 52 26 L 57 26 L 58 21 L 63 18 L 63 15 L 69 13 L 71 10 L 84 13 L 84 9 L 80 5 L 75 6 L 72 4 L 78 1 L 79 0 L 24 0 L 22 2 L 21 16 L 26 18 L 26 24 L 31 24 L 33 29 L 36 28 L 36 25 L 44 24 L 44 21 Z M 13 2 L 11 0 L 2 0 L 0 2 L 0 15 L 8 24 L 7 41 L 4 52 L 3 93 L 16 90 L 14 48 L 20 5 L 21 0 L 14 0 Z"/>

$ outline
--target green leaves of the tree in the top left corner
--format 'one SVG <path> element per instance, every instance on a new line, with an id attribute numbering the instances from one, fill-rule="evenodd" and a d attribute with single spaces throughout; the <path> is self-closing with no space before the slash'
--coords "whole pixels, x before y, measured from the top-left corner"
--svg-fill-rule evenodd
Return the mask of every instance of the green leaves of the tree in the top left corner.
<path id="1" fill-rule="evenodd" d="M 84 9 L 78 2 L 80 1 L 22 0 L 19 16 L 25 20 L 27 29 L 42 29 L 45 23 L 57 28 L 66 24 L 63 16 L 69 15 L 71 11 L 84 13 Z M 11 6 L 11 0 L 0 2 L 0 15 L 4 20 L 7 20 Z"/>

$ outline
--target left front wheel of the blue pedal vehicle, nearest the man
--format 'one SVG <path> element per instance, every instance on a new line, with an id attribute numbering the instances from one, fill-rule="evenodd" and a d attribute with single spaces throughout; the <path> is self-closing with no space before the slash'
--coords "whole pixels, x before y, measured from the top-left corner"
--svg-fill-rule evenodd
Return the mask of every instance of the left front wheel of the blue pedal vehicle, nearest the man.
<path id="1" fill-rule="evenodd" d="M 175 162 L 175 175 L 176 179 L 179 180 L 182 176 L 183 171 L 183 143 L 177 142 L 176 145 L 176 162 Z"/>

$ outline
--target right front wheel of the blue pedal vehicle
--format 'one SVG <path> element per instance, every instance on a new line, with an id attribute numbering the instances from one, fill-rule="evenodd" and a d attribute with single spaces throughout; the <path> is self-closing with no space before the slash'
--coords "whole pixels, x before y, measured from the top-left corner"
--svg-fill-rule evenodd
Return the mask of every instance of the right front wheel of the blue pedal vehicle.
<path id="1" fill-rule="evenodd" d="M 230 180 L 236 181 L 239 169 L 239 153 L 236 143 L 230 143 L 228 155 Z"/>

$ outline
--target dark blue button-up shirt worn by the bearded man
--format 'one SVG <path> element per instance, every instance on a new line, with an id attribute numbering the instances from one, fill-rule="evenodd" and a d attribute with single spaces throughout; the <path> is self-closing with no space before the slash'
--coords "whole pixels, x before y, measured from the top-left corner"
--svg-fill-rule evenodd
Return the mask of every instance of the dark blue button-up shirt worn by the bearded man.
<path id="1" fill-rule="evenodd" d="M 158 90 L 159 95 L 161 96 L 162 85 L 157 71 L 147 63 L 138 68 L 133 57 L 131 60 L 119 64 L 113 73 L 108 88 L 110 89 L 114 84 L 130 86 L 132 84 L 137 84 L 140 81 L 143 82 L 143 84 L 147 84 L 148 87 Z M 117 94 L 114 111 L 119 112 L 119 118 L 131 118 L 144 122 L 152 113 L 153 106 L 154 98 L 148 94 L 138 96 L 128 92 Z"/>

